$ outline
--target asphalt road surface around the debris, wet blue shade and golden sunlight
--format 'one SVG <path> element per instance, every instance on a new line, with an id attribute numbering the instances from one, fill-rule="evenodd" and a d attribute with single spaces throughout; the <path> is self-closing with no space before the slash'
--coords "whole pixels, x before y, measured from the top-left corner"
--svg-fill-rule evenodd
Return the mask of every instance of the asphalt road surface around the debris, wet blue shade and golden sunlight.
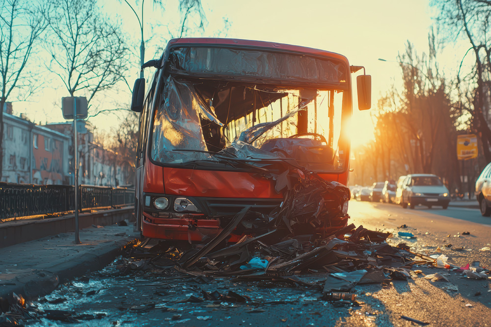
<path id="1" fill-rule="evenodd" d="M 491 251 L 481 251 L 491 247 L 491 218 L 480 217 L 478 210 L 411 210 L 394 204 L 351 201 L 349 213 L 357 226 L 391 231 L 394 236 L 388 239 L 390 244 L 405 242 L 416 252 L 444 253 L 458 265 L 480 261 L 481 266 L 491 266 Z M 407 227 L 399 228 L 403 224 Z M 400 238 L 398 231 L 411 232 L 416 238 Z M 463 235 L 464 231 L 470 234 Z M 448 244 L 464 249 L 444 247 Z M 422 270 L 425 274 L 448 274 L 450 283 L 431 282 L 414 273 L 408 281 L 358 285 L 354 291 L 360 306 L 334 306 L 320 300 L 318 290 L 228 278 L 198 284 L 189 279 L 163 280 L 158 275 L 118 277 L 116 265 L 65 284 L 46 298 L 66 301 L 41 304 L 45 309 L 103 313 L 102 319 L 80 324 L 41 320 L 27 326 L 417 326 L 402 320 L 401 315 L 429 326 L 491 326 L 489 281 L 469 279 L 445 269 Z M 325 277 L 319 274 L 311 279 Z M 200 297 L 201 289 L 220 293 L 232 290 L 253 301 L 180 302 L 192 295 Z"/>

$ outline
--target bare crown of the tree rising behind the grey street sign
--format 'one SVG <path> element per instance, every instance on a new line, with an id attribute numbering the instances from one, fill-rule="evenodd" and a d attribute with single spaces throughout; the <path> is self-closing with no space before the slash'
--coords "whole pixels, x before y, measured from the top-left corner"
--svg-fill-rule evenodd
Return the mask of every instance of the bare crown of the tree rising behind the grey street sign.
<path id="1" fill-rule="evenodd" d="M 82 93 L 90 101 L 102 90 L 124 80 L 128 48 L 120 29 L 111 24 L 96 0 L 51 0 L 50 70 L 70 96 Z"/>

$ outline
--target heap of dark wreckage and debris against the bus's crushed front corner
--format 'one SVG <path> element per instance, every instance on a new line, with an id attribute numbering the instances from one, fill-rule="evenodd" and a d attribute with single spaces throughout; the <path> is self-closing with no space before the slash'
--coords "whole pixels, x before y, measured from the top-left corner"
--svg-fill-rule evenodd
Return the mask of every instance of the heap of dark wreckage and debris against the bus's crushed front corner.
<path id="1" fill-rule="evenodd" d="M 414 265 L 452 268 L 445 255 L 411 252 L 404 243 L 389 245 L 386 240 L 391 233 L 346 226 L 350 191 L 342 184 L 300 169 L 276 174 L 270 170 L 269 177 L 276 181 L 276 190 L 284 194 L 284 201 L 271 214 L 246 207 L 204 245 L 137 245 L 128 253 L 130 259 L 120 266 L 121 272 L 152 270 L 172 278 L 233 277 L 236 281 L 310 287 L 322 289 L 326 300 L 343 302 L 354 297 L 337 292 L 349 292 L 356 284 L 406 280 Z M 239 242 L 229 244 L 232 232 L 242 236 Z M 414 237 L 409 232 L 398 232 L 398 236 Z M 325 276 L 322 284 L 301 279 L 316 274 Z M 484 271 L 467 270 L 464 274 L 487 277 Z M 441 274 L 427 278 L 448 280 Z M 197 300 L 213 300 L 206 292 L 202 296 Z"/>

